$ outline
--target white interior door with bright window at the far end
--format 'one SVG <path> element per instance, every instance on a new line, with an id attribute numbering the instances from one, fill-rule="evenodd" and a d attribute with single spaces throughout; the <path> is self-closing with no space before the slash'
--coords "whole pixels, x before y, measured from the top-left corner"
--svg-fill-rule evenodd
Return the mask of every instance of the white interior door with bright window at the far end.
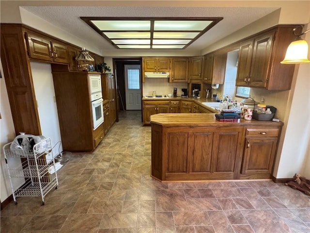
<path id="1" fill-rule="evenodd" d="M 141 110 L 140 65 L 124 65 L 126 110 Z"/>

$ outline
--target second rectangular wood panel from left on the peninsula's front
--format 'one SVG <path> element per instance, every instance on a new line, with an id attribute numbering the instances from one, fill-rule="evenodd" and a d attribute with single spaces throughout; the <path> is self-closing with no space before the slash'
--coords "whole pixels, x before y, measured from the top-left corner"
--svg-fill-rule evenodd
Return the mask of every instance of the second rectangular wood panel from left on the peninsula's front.
<path id="1" fill-rule="evenodd" d="M 210 172 L 213 132 L 199 132 L 190 134 L 193 147 L 189 148 L 191 157 L 190 172 Z"/>

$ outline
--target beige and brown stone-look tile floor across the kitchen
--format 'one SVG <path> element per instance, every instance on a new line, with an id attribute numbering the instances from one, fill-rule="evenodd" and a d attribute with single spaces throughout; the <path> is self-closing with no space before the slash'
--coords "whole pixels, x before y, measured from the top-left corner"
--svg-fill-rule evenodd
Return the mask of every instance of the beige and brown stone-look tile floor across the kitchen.
<path id="1" fill-rule="evenodd" d="M 309 196 L 265 181 L 159 183 L 150 177 L 151 128 L 120 112 L 93 153 L 73 154 L 59 188 L 17 198 L 1 233 L 309 233 Z"/>

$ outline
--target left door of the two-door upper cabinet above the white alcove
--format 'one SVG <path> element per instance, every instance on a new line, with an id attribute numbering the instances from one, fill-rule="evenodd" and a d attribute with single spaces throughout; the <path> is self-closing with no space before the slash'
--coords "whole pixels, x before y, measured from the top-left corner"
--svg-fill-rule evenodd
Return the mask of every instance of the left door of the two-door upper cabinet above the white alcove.
<path id="1" fill-rule="evenodd" d="M 53 52 L 49 40 L 37 35 L 26 33 L 28 41 L 29 57 L 43 61 L 53 61 Z"/>

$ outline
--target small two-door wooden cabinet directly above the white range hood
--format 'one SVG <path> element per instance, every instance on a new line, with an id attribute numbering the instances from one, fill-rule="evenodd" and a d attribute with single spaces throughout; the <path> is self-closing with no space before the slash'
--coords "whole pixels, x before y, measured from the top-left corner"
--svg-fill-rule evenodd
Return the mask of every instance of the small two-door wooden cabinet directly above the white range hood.
<path id="1" fill-rule="evenodd" d="M 144 72 L 169 72 L 170 58 L 142 58 Z"/>

